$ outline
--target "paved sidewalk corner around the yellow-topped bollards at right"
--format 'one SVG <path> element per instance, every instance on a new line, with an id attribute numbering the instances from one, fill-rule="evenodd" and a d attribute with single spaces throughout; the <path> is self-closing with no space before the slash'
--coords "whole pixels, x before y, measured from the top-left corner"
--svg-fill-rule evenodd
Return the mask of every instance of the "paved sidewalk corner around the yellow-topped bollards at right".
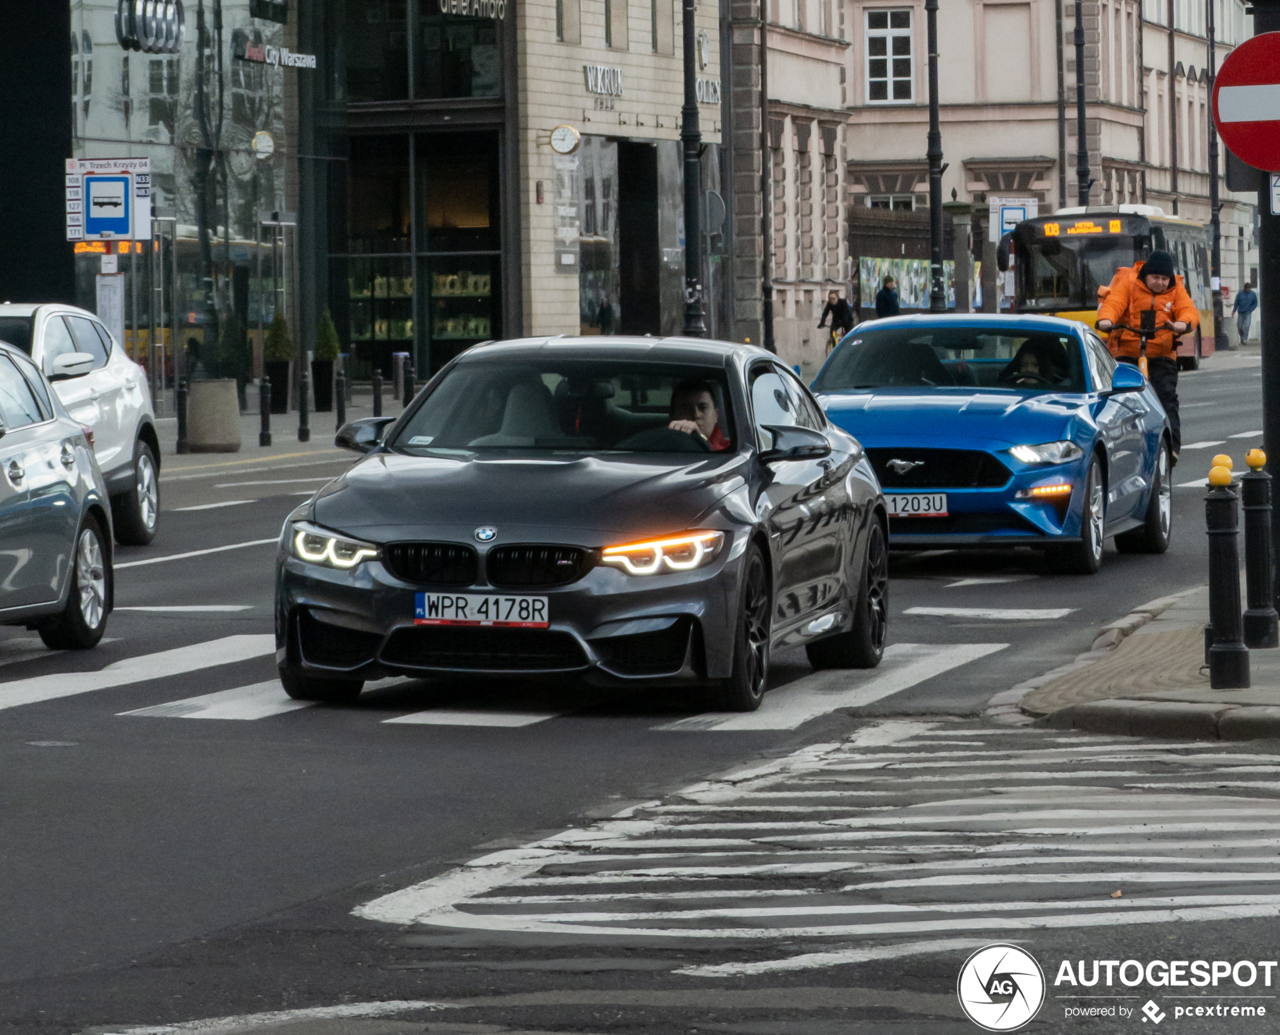
<path id="1" fill-rule="evenodd" d="M 1248 690 L 1210 690 L 1207 622 L 1204 586 L 1144 604 L 1103 627 L 1092 651 L 1039 686 L 1020 690 L 1016 706 L 1055 729 L 1222 741 L 1280 737 L 1280 650 L 1249 652 Z M 998 700 L 1006 695 L 992 704 L 1014 704 Z"/>

